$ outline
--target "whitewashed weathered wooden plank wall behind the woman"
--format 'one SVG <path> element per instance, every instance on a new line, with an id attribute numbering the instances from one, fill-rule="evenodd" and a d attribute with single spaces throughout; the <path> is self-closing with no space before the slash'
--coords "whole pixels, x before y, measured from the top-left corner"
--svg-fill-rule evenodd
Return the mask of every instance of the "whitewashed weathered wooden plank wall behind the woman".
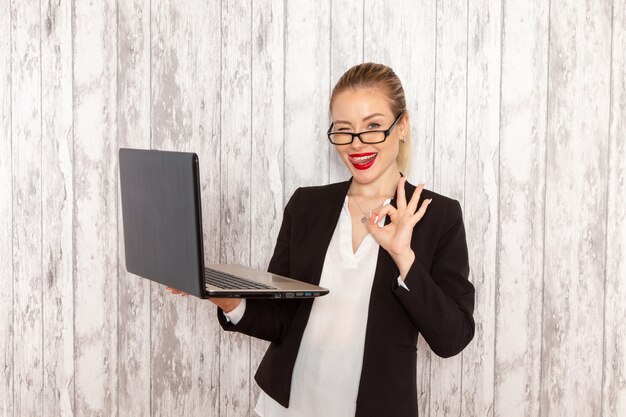
<path id="1" fill-rule="evenodd" d="M 117 149 L 197 152 L 207 261 L 264 268 L 293 190 L 347 178 L 363 61 L 464 208 L 476 337 L 420 342 L 420 415 L 625 416 L 623 0 L 0 0 L 0 416 L 254 415 L 266 343 L 125 272 Z"/>

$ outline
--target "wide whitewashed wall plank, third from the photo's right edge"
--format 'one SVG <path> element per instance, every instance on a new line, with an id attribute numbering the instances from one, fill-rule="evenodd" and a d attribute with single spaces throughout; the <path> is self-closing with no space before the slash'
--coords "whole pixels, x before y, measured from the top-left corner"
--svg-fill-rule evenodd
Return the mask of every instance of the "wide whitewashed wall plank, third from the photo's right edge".
<path id="1" fill-rule="evenodd" d="M 503 6 L 494 415 L 539 415 L 548 4 Z"/>

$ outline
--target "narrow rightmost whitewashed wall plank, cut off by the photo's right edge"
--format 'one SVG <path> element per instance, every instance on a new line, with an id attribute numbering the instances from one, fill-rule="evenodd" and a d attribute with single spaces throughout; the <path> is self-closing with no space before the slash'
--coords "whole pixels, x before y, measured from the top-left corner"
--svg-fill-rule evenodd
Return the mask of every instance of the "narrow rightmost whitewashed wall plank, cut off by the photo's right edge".
<path id="1" fill-rule="evenodd" d="M 626 4 L 613 2 L 602 415 L 626 415 Z"/>

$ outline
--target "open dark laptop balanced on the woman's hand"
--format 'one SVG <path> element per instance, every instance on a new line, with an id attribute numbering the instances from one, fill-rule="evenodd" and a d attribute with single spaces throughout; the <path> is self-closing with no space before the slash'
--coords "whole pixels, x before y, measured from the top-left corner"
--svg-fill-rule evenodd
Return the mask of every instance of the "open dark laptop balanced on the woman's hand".
<path id="1" fill-rule="evenodd" d="M 311 298 L 326 288 L 243 265 L 204 264 L 198 155 L 120 148 L 126 269 L 199 298 Z"/>

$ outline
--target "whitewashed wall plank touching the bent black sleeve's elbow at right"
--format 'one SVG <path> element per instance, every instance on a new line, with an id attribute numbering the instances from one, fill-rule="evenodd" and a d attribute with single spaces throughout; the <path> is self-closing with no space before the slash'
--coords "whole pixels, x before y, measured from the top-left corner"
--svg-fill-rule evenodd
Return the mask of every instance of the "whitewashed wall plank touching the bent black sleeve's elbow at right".
<path id="1" fill-rule="evenodd" d="M 463 352 L 461 415 L 488 417 L 494 399 L 502 6 L 493 1 L 468 5 L 467 96 L 472 104 L 467 107 L 463 216 L 477 288 L 477 326 Z"/>

